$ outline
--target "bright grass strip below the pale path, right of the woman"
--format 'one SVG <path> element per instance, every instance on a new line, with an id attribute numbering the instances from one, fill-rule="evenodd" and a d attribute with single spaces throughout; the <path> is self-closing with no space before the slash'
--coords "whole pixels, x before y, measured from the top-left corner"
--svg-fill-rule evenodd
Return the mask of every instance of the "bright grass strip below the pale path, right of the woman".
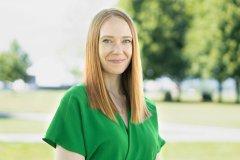
<path id="1" fill-rule="evenodd" d="M 166 143 L 161 160 L 239 160 L 240 143 Z"/>

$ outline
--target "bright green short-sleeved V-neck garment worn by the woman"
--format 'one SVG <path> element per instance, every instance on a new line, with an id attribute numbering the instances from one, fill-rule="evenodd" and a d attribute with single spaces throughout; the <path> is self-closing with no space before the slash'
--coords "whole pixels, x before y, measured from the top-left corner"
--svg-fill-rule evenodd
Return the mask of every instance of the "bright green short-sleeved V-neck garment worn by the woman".
<path id="1" fill-rule="evenodd" d="M 86 160 L 155 160 L 165 144 L 158 134 L 156 105 L 145 97 L 152 116 L 141 124 L 128 121 L 125 126 L 105 116 L 99 109 L 89 106 L 84 84 L 68 89 L 42 138 L 56 148 L 79 153 Z M 128 111 L 130 119 L 131 111 Z"/>

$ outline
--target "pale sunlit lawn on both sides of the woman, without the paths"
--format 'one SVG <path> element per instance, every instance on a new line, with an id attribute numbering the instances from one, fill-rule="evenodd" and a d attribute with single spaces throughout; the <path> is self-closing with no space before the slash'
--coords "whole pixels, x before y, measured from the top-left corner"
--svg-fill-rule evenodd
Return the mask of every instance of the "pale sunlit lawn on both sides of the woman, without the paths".
<path id="1" fill-rule="evenodd" d="M 0 112 L 53 114 L 64 90 L 0 91 Z M 157 104 L 159 121 L 240 128 L 240 105 L 181 102 Z M 48 122 L 0 119 L 0 133 L 42 133 Z M 240 143 L 167 142 L 161 160 L 238 160 Z M 0 160 L 52 160 L 54 150 L 45 143 L 0 142 Z"/>

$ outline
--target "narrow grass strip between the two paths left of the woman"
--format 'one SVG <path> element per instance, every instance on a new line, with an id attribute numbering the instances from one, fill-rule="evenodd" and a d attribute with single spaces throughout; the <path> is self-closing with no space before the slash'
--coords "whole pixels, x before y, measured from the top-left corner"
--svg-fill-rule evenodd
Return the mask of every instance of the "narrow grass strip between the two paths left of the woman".
<path id="1" fill-rule="evenodd" d="M 0 126 L 0 133 L 43 133 L 47 127 L 44 122 L 16 119 L 0 120 Z"/>

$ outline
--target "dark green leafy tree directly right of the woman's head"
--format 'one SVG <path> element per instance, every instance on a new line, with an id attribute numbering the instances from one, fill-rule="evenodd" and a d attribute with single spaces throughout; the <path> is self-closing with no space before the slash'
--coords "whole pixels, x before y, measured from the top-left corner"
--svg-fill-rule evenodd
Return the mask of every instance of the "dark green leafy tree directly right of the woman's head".
<path id="1" fill-rule="evenodd" d="M 182 49 L 190 20 L 184 1 L 121 0 L 120 6 L 130 14 L 138 29 L 144 78 L 169 76 L 181 93 L 180 82 L 188 68 Z"/>

